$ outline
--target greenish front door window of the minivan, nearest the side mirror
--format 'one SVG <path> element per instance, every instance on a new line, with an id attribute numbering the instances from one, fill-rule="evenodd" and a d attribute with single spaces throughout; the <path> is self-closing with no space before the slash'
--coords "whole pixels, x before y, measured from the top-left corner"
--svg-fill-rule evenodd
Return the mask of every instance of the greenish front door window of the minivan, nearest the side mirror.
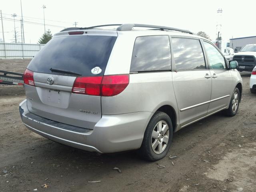
<path id="1" fill-rule="evenodd" d="M 225 59 L 222 54 L 208 42 L 204 41 L 204 47 L 208 55 L 210 69 L 225 69 Z"/>

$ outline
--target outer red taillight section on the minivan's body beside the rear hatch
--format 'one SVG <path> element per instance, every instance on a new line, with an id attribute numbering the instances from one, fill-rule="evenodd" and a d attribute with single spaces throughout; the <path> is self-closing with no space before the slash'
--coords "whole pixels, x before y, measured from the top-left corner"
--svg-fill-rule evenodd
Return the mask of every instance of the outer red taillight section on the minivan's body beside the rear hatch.
<path id="1" fill-rule="evenodd" d="M 129 84 L 129 75 L 106 75 L 102 79 L 102 96 L 120 94 Z"/>

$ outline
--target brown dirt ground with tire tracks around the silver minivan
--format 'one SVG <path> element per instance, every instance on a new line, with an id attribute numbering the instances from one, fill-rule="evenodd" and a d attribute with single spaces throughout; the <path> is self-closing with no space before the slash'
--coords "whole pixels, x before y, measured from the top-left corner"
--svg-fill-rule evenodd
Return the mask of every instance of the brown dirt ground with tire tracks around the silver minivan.
<path id="1" fill-rule="evenodd" d="M 22 66 L 16 72 L 27 63 L 9 61 Z M 0 70 L 12 70 L 9 64 L 1 60 Z M 136 152 L 98 156 L 47 140 L 20 120 L 22 86 L 0 86 L 0 191 L 255 192 L 256 94 L 250 93 L 250 73 L 241 76 L 238 114 L 218 113 L 174 133 L 168 156 L 177 158 L 157 162 L 141 160 Z"/>

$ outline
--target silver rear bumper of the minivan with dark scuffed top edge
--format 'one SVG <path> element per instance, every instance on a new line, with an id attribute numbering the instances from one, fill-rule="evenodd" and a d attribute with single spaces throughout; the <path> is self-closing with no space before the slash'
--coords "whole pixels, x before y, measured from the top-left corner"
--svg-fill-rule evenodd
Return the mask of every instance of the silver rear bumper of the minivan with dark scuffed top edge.
<path id="1" fill-rule="evenodd" d="M 151 112 L 102 115 L 90 130 L 42 118 L 28 111 L 26 100 L 20 103 L 20 116 L 28 129 L 55 142 L 100 153 L 140 148 L 152 115 Z"/>

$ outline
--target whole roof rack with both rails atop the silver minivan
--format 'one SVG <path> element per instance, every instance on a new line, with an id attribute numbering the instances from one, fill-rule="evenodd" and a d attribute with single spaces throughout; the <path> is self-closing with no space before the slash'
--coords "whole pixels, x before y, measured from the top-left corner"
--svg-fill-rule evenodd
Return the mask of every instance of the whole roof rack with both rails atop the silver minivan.
<path id="1" fill-rule="evenodd" d="M 98 25 L 98 26 L 83 27 L 83 28 L 71 27 L 71 28 L 63 29 L 63 30 L 61 30 L 61 32 L 69 31 L 69 30 L 93 29 L 93 28 L 106 27 L 106 26 L 118 26 L 118 28 L 116 28 L 117 31 L 130 31 L 133 29 L 133 27 L 144 27 L 144 28 L 152 28 L 151 30 L 159 30 L 159 29 L 162 31 L 171 30 L 171 31 L 179 31 L 179 32 L 194 34 L 188 30 L 172 28 L 172 27 L 165 27 L 165 26 L 158 26 L 158 25 L 146 25 L 146 24 L 108 24 L 108 25 Z"/>

